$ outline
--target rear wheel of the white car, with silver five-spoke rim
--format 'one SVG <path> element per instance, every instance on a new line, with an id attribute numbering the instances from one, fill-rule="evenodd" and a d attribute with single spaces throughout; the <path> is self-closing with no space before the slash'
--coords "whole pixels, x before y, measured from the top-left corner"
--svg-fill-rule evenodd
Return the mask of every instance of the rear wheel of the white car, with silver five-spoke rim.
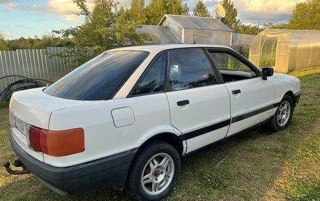
<path id="1" fill-rule="evenodd" d="M 163 141 L 152 141 L 135 156 L 127 188 L 138 200 L 162 200 L 173 190 L 179 174 L 178 151 Z"/>

